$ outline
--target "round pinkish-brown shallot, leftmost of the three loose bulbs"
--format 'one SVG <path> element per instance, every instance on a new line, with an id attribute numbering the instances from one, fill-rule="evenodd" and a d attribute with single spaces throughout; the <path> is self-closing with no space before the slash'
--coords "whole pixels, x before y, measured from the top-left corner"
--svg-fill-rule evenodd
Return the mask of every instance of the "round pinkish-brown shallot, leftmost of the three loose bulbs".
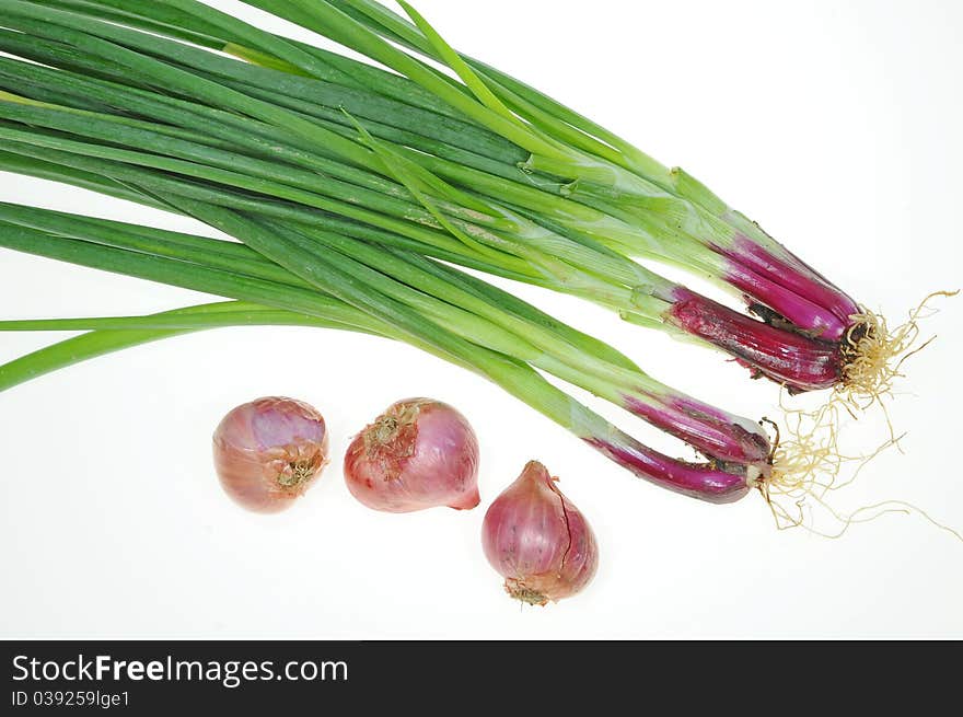
<path id="1" fill-rule="evenodd" d="M 278 512 L 304 495 L 328 460 L 324 418 L 293 398 L 237 406 L 214 431 L 214 467 L 237 504 Z"/>

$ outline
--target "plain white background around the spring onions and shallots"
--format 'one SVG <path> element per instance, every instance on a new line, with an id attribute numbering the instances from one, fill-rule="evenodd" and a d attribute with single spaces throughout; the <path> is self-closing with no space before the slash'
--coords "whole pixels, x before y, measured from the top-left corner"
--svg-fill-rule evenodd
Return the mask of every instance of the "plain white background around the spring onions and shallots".
<path id="1" fill-rule="evenodd" d="M 234 1 L 211 2 L 287 30 Z M 963 4 L 733 0 L 419 0 L 464 50 L 530 80 L 706 181 L 859 300 L 898 322 L 961 279 Z M 299 36 L 304 33 L 295 32 Z M 0 199 L 204 231 L 0 174 Z M 520 288 L 670 384 L 734 412 L 778 391 L 718 356 Z M 205 300 L 0 251 L 4 317 L 143 313 Z M 963 527 L 960 300 L 893 404 L 908 430 L 837 496 L 902 498 Z M 2 335 L 0 360 L 61 335 Z M 287 394 L 327 416 L 335 461 L 295 509 L 257 517 L 214 478 L 233 405 Z M 391 402 L 460 407 L 484 450 L 483 507 L 371 512 L 344 486 L 351 435 Z M 682 449 L 631 421 L 665 450 Z M 863 449 L 882 426 L 863 421 Z M 593 523 L 590 589 L 544 610 L 501 592 L 487 504 L 538 458 Z M 415 349 L 311 329 L 155 344 L 0 394 L 0 636 L 258 638 L 963 637 L 963 544 L 918 517 L 827 541 L 777 532 L 755 496 L 717 507 L 619 472 L 479 378 Z"/>

